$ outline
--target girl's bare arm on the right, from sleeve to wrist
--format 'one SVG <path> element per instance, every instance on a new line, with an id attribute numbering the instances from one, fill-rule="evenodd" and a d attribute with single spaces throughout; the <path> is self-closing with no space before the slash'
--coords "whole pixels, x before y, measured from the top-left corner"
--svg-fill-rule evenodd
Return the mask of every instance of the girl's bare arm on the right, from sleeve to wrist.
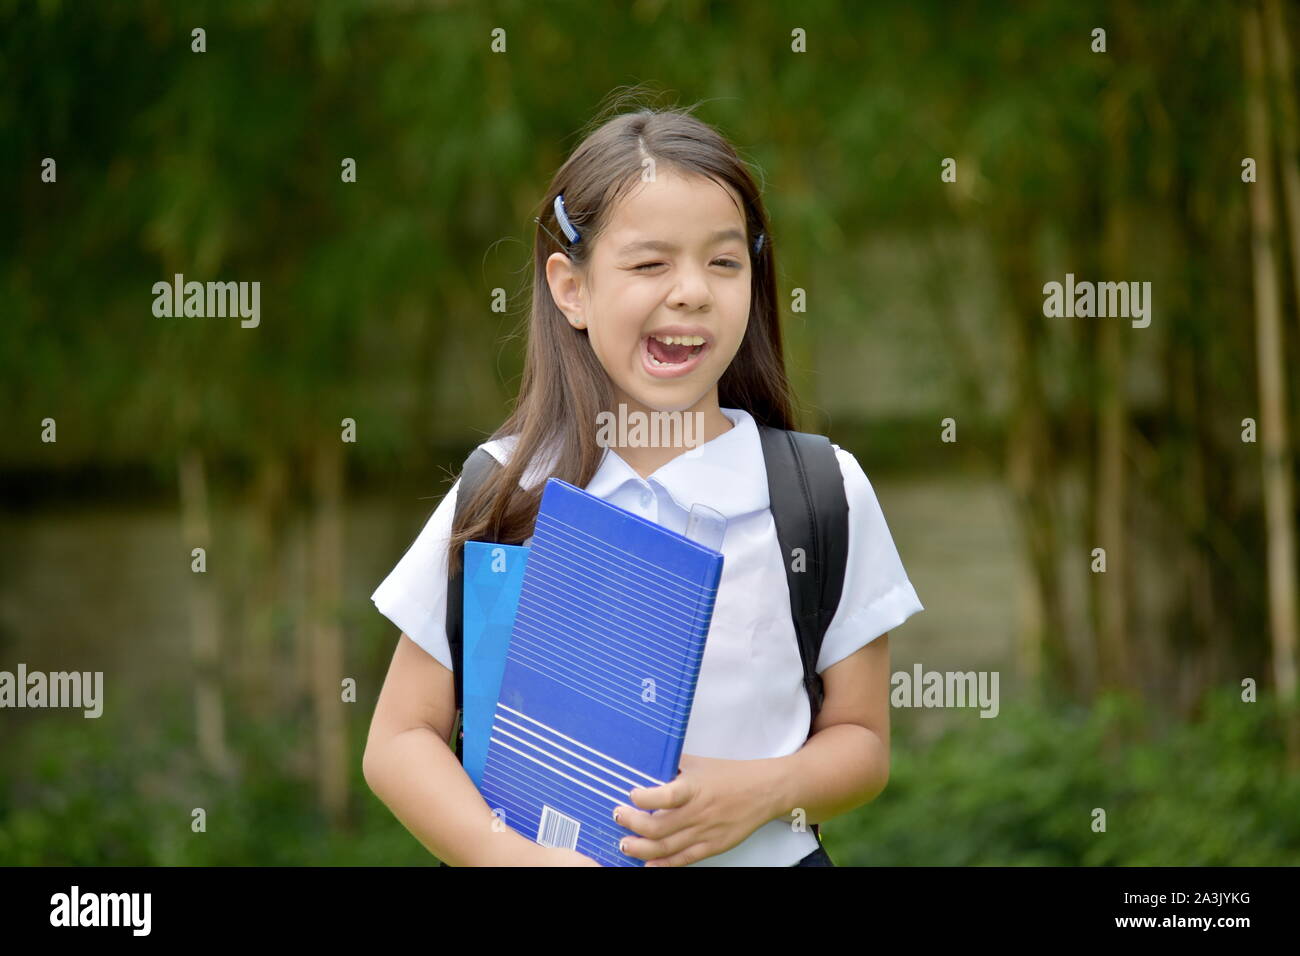
<path id="1" fill-rule="evenodd" d="M 871 803 L 889 782 L 889 635 L 822 671 L 812 734 L 771 761 L 774 818 L 823 823 Z"/>

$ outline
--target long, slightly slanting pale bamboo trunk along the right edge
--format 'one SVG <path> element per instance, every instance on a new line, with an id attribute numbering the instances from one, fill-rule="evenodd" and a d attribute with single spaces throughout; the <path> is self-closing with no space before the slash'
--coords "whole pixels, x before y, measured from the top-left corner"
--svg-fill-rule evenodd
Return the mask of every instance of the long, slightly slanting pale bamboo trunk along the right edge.
<path id="1" fill-rule="evenodd" d="M 1300 766 L 1296 692 L 1296 558 L 1292 520 L 1291 455 L 1287 447 L 1287 389 L 1283 364 L 1282 307 L 1274 255 L 1273 144 L 1264 88 L 1264 36 L 1257 8 L 1244 10 L 1247 142 L 1256 160 L 1251 193 L 1251 252 L 1254 261 L 1256 352 L 1260 376 L 1260 451 L 1268 537 L 1269 622 L 1273 674 L 1286 708 L 1287 754 Z"/>

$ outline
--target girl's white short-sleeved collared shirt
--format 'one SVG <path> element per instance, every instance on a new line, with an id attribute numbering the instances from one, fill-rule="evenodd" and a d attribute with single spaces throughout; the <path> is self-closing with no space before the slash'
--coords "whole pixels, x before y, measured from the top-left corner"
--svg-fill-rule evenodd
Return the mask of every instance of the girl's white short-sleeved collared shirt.
<path id="1" fill-rule="evenodd" d="M 694 503 L 707 505 L 727 519 L 723 575 L 682 752 L 727 760 L 784 757 L 807 740 L 811 708 L 768 507 L 758 425 L 741 408 L 722 412 L 733 428 L 684 451 L 649 479 L 607 449 L 586 490 L 679 533 L 685 533 Z M 481 447 L 504 464 L 514 445 L 510 436 Z M 858 459 L 838 445 L 835 451 L 849 502 L 849 555 L 818 672 L 924 610 Z M 534 464 L 520 485 L 530 488 L 545 479 Z M 389 620 L 448 670 L 447 541 L 459 484 L 451 486 L 370 597 Z M 816 848 L 811 830 L 796 831 L 790 823 L 772 819 L 736 847 L 693 865 L 792 866 Z"/>

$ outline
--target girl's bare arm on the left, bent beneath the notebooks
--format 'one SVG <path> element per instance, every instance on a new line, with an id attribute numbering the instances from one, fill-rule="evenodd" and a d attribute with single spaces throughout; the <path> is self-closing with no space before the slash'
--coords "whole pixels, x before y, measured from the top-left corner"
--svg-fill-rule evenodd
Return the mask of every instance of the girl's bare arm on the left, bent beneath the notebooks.
<path id="1" fill-rule="evenodd" d="M 393 816 L 448 866 L 598 866 L 497 823 L 448 741 L 456 715 L 451 671 L 404 633 L 370 721 L 361 770 Z M 560 857 L 569 857 L 562 860 Z M 575 860 L 578 858 L 578 860 Z"/>

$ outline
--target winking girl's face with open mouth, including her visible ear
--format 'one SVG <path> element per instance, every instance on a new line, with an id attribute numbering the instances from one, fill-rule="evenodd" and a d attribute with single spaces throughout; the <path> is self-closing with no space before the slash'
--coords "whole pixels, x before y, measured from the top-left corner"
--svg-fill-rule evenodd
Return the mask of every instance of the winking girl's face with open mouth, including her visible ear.
<path id="1" fill-rule="evenodd" d="M 588 329 L 615 402 L 629 411 L 718 408 L 718 380 L 749 324 L 751 263 L 740 209 L 729 186 L 659 170 L 615 207 L 586 276 L 560 252 L 547 260 L 555 303 Z M 653 336 L 702 337 L 703 345 L 660 345 Z"/>

